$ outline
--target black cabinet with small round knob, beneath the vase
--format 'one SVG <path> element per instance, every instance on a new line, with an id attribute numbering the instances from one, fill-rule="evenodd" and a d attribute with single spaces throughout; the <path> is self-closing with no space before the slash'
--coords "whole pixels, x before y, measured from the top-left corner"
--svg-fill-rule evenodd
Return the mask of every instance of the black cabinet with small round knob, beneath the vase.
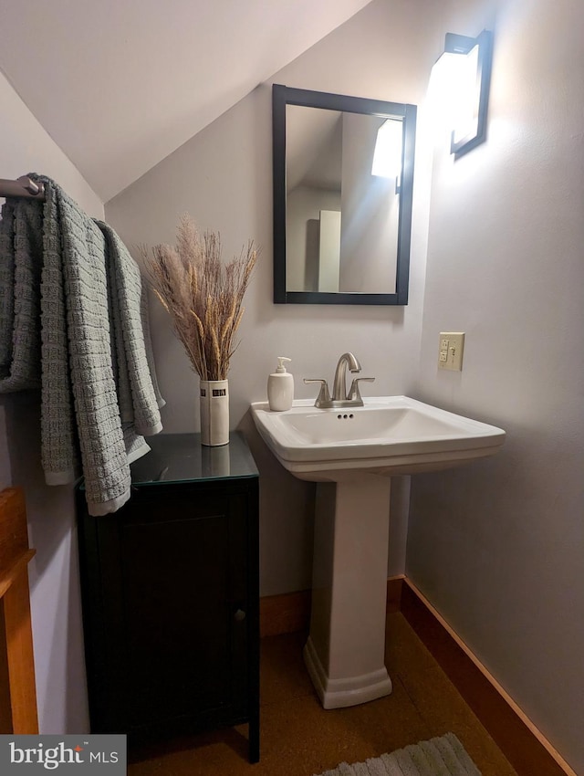
<path id="1" fill-rule="evenodd" d="M 258 475 L 242 435 L 149 438 L 132 495 L 78 537 L 94 733 L 249 724 L 259 759 Z"/>

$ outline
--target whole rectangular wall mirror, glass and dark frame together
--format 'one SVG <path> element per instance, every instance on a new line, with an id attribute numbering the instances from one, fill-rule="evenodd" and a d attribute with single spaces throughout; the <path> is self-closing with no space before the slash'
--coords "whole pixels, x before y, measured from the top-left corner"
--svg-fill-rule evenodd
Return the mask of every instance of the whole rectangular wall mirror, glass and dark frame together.
<path id="1" fill-rule="evenodd" d="M 274 301 L 408 303 L 416 106 L 272 88 Z"/>

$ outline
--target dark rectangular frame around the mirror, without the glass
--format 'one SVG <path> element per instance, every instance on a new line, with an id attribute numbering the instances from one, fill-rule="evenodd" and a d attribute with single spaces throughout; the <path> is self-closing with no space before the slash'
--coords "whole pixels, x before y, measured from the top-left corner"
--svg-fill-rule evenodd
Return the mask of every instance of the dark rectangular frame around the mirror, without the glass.
<path id="1" fill-rule="evenodd" d="M 286 106 L 339 110 L 403 119 L 403 152 L 398 224 L 398 256 L 395 293 L 287 291 L 286 289 Z M 274 184 L 274 302 L 276 304 L 406 305 L 410 279 L 412 233 L 413 160 L 416 131 L 415 105 L 368 100 L 325 91 L 272 85 L 272 149 Z"/>

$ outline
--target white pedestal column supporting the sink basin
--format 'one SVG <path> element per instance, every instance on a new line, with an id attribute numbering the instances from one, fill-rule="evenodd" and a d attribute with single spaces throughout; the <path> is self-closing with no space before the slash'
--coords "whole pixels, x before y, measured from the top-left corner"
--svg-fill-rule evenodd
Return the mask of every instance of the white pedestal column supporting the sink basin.
<path id="1" fill-rule="evenodd" d="M 384 662 L 390 477 L 317 485 L 308 673 L 324 708 L 391 693 Z"/>

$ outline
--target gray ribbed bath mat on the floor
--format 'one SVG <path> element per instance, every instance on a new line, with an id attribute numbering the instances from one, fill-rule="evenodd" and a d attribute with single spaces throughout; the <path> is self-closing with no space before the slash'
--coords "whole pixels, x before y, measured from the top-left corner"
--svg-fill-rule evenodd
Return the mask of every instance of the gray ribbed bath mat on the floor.
<path id="1" fill-rule="evenodd" d="M 454 733 L 446 733 L 366 762 L 341 762 L 320 776 L 481 776 L 481 771 Z"/>

